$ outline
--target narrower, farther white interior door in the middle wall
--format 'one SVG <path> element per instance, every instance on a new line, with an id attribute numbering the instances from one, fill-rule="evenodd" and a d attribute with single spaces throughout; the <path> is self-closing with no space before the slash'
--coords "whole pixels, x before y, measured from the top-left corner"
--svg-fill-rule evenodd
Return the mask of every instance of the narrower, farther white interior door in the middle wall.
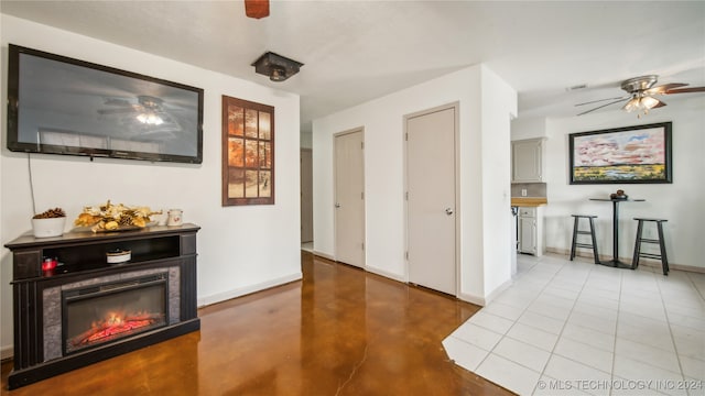
<path id="1" fill-rule="evenodd" d="M 335 136 L 335 258 L 365 266 L 362 131 Z"/>

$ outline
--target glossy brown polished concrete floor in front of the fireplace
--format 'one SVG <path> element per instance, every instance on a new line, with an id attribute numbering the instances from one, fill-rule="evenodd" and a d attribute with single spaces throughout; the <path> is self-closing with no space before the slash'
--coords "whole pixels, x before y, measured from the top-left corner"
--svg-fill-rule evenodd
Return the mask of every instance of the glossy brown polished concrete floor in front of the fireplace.
<path id="1" fill-rule="evenodd" d="M 479 307 L 302 252 L 303 282 L 199 310 L 202 330 L 9 395 L 511 395 L 448 360 Z"/>

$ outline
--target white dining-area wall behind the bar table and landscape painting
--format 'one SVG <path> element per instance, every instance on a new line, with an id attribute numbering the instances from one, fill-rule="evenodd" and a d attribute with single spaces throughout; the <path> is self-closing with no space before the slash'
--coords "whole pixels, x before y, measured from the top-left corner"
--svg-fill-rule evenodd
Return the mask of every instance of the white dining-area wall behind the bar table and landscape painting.
<path id="1" fill-rule="evenodd" d="M 646 202 L 620 204 L 619 253 L 625 261 L 631 262 L 633 253 L 637 230 L 633 218 L 663 218 L 669 220 L 664 223 L 669 262 L 705 270 L 705 98 L 693 95 L 677 99 L 665 98 L 668 107 L 655 109 L 641 119 L 634 113 L 616 110 L 546 121 L 547 249 L 570 250 L 573 230 L 570 216 L 586 212 L 599 217 L 600 255 L 611 256 L 611 205 L 588 201 L 588 198 L 608 197 L 621 188 L 632 198 L 646 199 Z M 665 121 L 673 122 L 673 184 L 568 184 L 570 133 Z M 655 232 L 649 234 L 655 237 Z"/>

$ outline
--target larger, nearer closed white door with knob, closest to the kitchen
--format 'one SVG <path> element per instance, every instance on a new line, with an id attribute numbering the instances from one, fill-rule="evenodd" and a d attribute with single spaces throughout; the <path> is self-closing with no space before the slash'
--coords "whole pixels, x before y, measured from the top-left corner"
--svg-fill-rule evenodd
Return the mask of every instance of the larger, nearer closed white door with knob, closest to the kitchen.
<path id="1" fill-rule="evenodd" d="M 406 119 L 409 282 L 456 295 L 455 108 Z"/>

